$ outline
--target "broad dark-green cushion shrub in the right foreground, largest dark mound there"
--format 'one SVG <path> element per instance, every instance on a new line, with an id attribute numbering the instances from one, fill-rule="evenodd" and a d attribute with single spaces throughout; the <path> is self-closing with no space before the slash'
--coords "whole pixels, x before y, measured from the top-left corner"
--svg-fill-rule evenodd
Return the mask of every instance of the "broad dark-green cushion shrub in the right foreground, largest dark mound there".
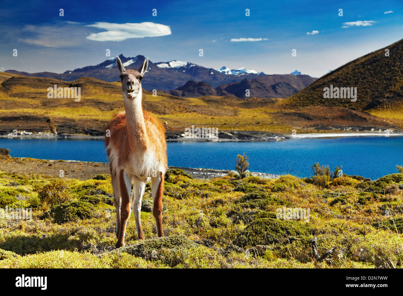
<path id="1" fill-rule="evenodd" d="M 256 246 L 258 244 L 287 243 L 297 239 L 308 240 L 310 228 L 296 221 L 273 218 L 253 220 L 247 225 L 234 244 Z"/>

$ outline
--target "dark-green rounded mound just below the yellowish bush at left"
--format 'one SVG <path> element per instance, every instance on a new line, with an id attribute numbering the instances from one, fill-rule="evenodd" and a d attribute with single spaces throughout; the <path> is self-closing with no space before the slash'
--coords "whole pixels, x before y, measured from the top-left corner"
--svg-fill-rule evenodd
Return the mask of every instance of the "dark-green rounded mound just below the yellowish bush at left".
<path id="1" fill-rule="evenodd" d="M 54 220 L 57 223 L 88 219 L 93 216 L 93 205 L 84 201 L 62 203 L 61 205 L 52 207 L 51 214 L 54 214 Z"/>

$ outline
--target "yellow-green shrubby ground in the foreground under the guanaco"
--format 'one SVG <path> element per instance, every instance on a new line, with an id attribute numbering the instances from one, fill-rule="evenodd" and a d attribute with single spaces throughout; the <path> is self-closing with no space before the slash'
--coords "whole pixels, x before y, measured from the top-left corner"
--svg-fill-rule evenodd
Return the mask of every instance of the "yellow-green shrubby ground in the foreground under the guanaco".
<path id="1" fill-rule="evenodd" d="M 145 240 L 136 239 L 132 213 L 126 246 L 115 250 L 110 176 L 36 180 L 3 171 L 0 207 L 33 207 L 33 219 L 0 219 L 0 267 L 402 267 L 403 174 L 357 179 L 336 178 L 322 190 L 290 175 L 202 181 L 169 170 L 166 237 L 156 238 L 148 184 Z M 277 219 L 283 206 L 310 208 L 309 221 Z M 312 259 L 314 237 L 320 255 L 336 247 L 331 261 Z"/>

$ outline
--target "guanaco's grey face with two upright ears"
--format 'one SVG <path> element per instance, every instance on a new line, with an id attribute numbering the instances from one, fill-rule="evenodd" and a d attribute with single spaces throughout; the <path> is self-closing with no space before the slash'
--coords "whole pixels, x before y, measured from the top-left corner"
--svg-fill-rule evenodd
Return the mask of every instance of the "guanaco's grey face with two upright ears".
<path id="1" fill-rule="evenodd" d="M 120 71 L 123 96 L 128 99 L 136 98 L 139 93 L 141 94 L 141 80 L 148 67 L 148 58 L 145 58 L 143 65 L 141 65 L 138 71 L 133 69 L 126 70 L 118 56 L 116 57 L 116 66 L 118 66 L 118 70 Z"/>

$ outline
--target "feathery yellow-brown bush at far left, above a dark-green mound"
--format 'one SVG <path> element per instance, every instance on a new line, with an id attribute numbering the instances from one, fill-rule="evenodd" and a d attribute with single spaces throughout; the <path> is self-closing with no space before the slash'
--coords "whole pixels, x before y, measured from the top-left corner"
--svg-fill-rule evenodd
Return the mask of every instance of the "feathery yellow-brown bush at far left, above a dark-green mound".
<path id="1" fill-rule="evenodd" d="M 38 193 L 42 203 L 57 205 L 71 201 L 70 188 L 63 179 L 52 179 L 49 184 L 35 184 L 33 190 Z"/>

